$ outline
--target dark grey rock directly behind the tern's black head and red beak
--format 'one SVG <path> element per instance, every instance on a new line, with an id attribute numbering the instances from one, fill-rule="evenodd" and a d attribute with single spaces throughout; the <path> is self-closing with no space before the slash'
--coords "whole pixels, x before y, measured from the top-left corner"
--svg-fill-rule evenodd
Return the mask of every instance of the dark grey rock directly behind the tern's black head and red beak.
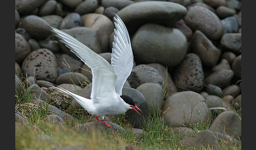
<path id="1" fill-rule="evenodd" d="M 131 97 L 134 100 L 135 105 L 142 111 L 140 112 L 141 115 L 139 115 L 134 110 L 128 110 L 126 112 L 125 120 L 131 123 L 133 127 L 143 129 L 145 125 L 144 123 L 148 120 L 150 114 L 149 103 L 141 92 L 133 88 L 123 87 L 122 95 Z"/>

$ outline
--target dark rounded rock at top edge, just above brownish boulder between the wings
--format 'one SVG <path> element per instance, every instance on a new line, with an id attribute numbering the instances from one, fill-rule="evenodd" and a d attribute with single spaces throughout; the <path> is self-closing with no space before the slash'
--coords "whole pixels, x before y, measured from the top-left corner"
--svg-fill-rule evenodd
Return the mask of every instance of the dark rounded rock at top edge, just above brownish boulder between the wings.
<path id="1" fill-rule="evenodd" d="M 76 6 L 75 12 L 80 15 L 93 13 L 98 6 L 97 0 L 86 0 Z"/>

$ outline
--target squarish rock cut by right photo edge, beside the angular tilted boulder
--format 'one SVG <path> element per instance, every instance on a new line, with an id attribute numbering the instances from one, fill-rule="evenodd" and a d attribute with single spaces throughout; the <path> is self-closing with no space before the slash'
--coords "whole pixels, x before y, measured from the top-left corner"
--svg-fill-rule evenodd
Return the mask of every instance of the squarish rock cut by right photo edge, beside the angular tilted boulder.
<path id="1" fill-rule="evenodd" d="M 242 52 L 242 34 L 230 33 L 224 34 L 221 38 L 221 46 L 234 52 Z"/>

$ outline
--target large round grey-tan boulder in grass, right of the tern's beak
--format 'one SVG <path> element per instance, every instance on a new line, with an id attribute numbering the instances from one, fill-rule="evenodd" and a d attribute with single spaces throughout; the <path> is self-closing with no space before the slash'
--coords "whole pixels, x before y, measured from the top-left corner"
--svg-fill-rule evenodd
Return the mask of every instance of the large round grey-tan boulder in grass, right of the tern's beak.
<path id="1" fill-rule="evenodd" d="M 162 112 L 166 123 L 172 126 L 193 126 L 193 124 L 211 120 L 211 111 L 204 98 L 192 91 L 171 95 L 165 100 Z"/>

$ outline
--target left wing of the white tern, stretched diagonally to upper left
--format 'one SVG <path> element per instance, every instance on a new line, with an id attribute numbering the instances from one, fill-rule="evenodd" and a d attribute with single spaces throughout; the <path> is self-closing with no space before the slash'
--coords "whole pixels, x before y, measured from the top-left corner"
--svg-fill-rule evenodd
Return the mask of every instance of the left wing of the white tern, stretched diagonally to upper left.
<path id="1" fill-rule="evenodd" d="M 92 69 L 91 99 L 93 102 L 99 103 L 101 98 L 106 97 L 116 99 L 115 82 L 117 75 L 109 62 L 74 37 L 56 28 L 50 27 L 50 29 L 66 47 L 70 48 L 78 58 Z"/>

